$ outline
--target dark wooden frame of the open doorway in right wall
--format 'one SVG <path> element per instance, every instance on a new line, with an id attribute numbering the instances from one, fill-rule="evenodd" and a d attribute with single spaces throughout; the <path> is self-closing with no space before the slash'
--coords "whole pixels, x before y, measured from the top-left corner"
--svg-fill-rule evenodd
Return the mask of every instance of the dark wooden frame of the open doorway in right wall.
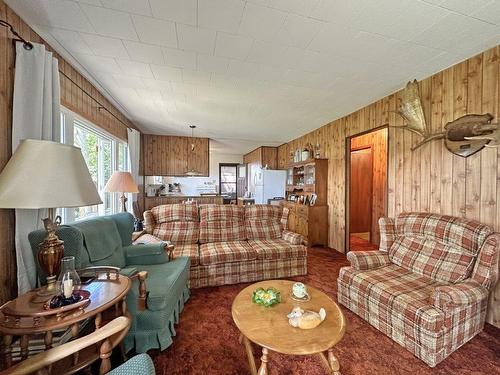
<path id="1" fill-rule="evenodd" d="M 345 175 L 345 191 L 344 191 L 344 228 L 345 228 L 345 233 L 344 233 L 344 249 L 345 249 L 345 254 L 347 254 L 350 249 L 349 249 L 349 243 L 350 243 L 350 230 L 349 230 L 349 210 L 350 210 L 350 202 L 349 202 L 349 195 L 350 195 L 350 190 L 351 190 L 351 140 L 353 138 L 359 137 L 361 135 L 369 134 L 376 132 L 378 130 L 382 129 L 387 129 L 387 150 L 386 150 L 386 157 L 387 157 L 387 167 L 386 167 L 386 179 L 385 179 L 385 216 L 387 216 L 388 212 L 388 202 L 389 202 L 389 149 L 390 149 L 390 142 L 391 142 L 391 137 L 389 136 L 389 124 L 384 124 L 381 126 L 378 126 L 373 129 L 365 130 L 353 135 L 350 135 L 348 137 L 345 137 L 345 170 L 344 170 L 344 175 Z M 361 147 L 363 148 L 363 147 Z M 373 203 L 373 202 L 372 202 Z M 373 230 L 373 228 L 372 228 Z"/>

